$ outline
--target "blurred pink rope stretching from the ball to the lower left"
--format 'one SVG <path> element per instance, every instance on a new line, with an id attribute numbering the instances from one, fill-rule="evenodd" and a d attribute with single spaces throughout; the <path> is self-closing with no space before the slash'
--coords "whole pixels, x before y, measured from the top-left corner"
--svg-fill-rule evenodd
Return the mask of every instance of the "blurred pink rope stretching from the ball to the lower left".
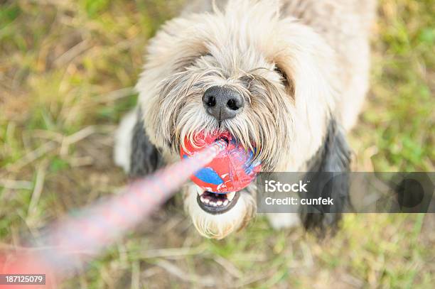
<path id="1" fill-rule="evenodd" d="M 34 267 L 41 264 L 40 268 L 48 268 L 58 278 L 70 275 L 146 219 L 226 146 L 225 141 L 216 141 L 191 158 L 131 182 L 119 195 L 82 209 L 75 217 L 56 222 L 36 240 L 35 244 L 44 249 L 32 250 L 34 253 L 22 260 L 18 258 L 18 263 L 9 267 L 35 271 Z"/>

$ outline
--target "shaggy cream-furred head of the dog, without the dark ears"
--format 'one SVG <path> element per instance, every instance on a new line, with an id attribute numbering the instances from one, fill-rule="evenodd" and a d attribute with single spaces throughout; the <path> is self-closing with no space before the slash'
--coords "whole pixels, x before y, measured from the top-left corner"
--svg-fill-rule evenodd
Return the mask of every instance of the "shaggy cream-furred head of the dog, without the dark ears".
<path id="1" fill-rule="evenodd" d="M 145 128 L 173 156 L 198 131 L 225 131 L 255 151 L 265 171 L 304 170 L 334 109 L 334 56 L 272 1 L 252 2 L 176 18 L 151 40 L 137 84 Z M 198 193 L 187 190 L 185 205 L 205 236 L 222 238 L 254 212 L 247 191 L 204 195 L 208 203 Z"/>

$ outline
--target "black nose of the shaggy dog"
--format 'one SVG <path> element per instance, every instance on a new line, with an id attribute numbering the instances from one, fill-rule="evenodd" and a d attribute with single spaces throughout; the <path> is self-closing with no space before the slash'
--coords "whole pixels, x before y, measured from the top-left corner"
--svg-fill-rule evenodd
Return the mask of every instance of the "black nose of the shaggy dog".
<path id="1" fill-rule="evenodd" d="M 242 95 L 228 87 L 210 87 L 203 95 L 205 110 L 218 121 L 236 116 L 242 111 L 243 104 Z"/>

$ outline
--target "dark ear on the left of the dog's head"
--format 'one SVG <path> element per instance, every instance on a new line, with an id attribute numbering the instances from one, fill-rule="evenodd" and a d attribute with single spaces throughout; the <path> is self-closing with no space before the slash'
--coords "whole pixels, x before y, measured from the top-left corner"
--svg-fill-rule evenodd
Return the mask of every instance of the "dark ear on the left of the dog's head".
<path id="1" fill-rule="evenodd" d="M 147 136 L 144 127 L 144 120 L 139 110 L 133 129 L 133 137 L 131 138 L 129 176 L 139 178 L 148 175 L 162 164 L 163 158 L 156 146 L 149 141 L 149 136 Z"/>

